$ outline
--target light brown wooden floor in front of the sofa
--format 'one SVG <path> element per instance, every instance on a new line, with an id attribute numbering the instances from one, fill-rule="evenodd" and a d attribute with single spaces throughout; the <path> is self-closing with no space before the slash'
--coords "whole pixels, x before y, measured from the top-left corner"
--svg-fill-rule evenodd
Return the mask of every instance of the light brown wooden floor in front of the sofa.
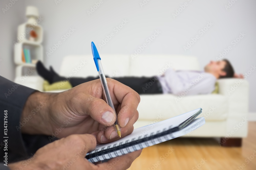
<path id="1" fill-rule="evenodd" d="M 248 131 L 242 147 L 220 147 L 211 138 L 176 138 L 159 143 L 143 149 L 129 170 L 256 170 L 256 122 L 249 122 Z"/>

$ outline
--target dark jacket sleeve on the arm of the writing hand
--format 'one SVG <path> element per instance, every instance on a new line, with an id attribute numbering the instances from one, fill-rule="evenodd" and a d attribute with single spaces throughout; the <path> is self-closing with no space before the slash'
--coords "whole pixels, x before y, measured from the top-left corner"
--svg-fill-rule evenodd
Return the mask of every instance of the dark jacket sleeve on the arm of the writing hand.
<path id="1" fill-rule="evenodd" d="M 19 128 L 20 116 L 28 96 L 35 90 L 16 84 L 0 76 L 0 169 L 6 168 L 2 163 L 7 153 L 8 163 L 26 158 L 27 152 Z M 7 132 L 4 131 L 4 112 L 7 110 Z M 5 134 L 6 133 L 6 134 Z M 6 138 L 5 138 L 6 137 Z M 7 138 L 8 137 L 8 138 Z M 7 144 L 5 142 L 7 140 Z"/>

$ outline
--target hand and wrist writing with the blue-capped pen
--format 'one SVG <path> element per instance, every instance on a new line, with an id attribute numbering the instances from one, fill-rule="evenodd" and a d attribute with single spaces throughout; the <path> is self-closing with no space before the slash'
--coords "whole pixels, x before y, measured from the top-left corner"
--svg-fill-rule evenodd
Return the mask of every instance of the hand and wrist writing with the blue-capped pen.
<path id="1" fill-rule="evenodd" d="M 121 136 L 124 137 L 133 131 L 133 124 L 138 119 L 140 96 L 116 80 L 107 78 L 107 81 L 118 113 Z M 71 134 L 92 134 L 99 143 L 119 138 L 113 127 L 116 119 L 114 110 L 105 101 L 99 79 L 61 93 L 35 92 L 28 98 L 21 120 L 40 102 L 46 104 L 32 116 L 33 121 L 22 127 L 23 133 L 56 135 L 58 138 Z"/>

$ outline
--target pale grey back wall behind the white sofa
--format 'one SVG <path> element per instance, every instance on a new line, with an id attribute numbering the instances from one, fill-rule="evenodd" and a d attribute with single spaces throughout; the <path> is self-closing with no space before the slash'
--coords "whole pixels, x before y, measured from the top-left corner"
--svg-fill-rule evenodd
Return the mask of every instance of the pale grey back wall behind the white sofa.
<path id="1" fill-rule="evenodd" d="M 40 15 L 44 18 L 40 24 L 44 28 L 43 45 L 47 66 L 52 65 L 59 71 L 64 56 L 91 54 L 91 41 L 94 41 L 101 54 L 134 54 L 134 50 L 147 43 L 146 39 L 153 35 L 155 30 L 161 33 L 147 44 L 141 54 L 194 55 L 199 58 L 203 68 L 209 60 L 215 60 L 224 48 L 232 46 L 231 41 L 237 38 L 240 32 L 244 32 L 244 38 L 236 46 L 232 46 L 225 58 L 231 61 L 238 73 L 245 73 L 256 64 L 256 1 L 234 1 L 235 3 L 226 10 L 228 0 L 151 0 L 143 7 L 140 6 L 143 0 L 102 0 L 103 3 L 89 16 L 87 11 L 98 2 L 99 0 L 73 0 L 61 1 L 56 5 L 52 0 L 25 1 L 25 6 L 38 7 Z M 188 6 L 174 18 L 172 14 L 185 2 Z M 20 15 L 25 14 L 23 12 Z M 116 33 L 113 29 L 121 24 L 123 19 L 128 23 Z M 200 35 L 198 31 L 204 28 L 207 22 L 213 25 Z M 63 41 L 61 37 L 70 27 L 76 30 Z M 111 32 L 114 37 L 100 49 L 99 43 Z M 185 51 L 183 46 L 196 35 L 200 38 Z M 3 40 L 0 41 L 2 44 Z M 62 44 L 47 57 L 46 52 L 58 41 Z M 247 78 L 250 82 L 251 112 L 256 112 L 255 75 L 256 72 L 252 72 Z"/>

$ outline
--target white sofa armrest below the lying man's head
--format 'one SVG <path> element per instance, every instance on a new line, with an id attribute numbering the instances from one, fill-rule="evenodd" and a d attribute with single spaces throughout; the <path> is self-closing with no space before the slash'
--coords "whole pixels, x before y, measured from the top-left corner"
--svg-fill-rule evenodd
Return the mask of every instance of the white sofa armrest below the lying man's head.
<path id="1" fill-rule="evenodd" d="M 248 133 L 249 83 L 244 79 L 220 79 L 219 93 L 228 98 L 226 135 L 246 137 Z M 230 136 L 231 135 L 231 136 Z"/>

